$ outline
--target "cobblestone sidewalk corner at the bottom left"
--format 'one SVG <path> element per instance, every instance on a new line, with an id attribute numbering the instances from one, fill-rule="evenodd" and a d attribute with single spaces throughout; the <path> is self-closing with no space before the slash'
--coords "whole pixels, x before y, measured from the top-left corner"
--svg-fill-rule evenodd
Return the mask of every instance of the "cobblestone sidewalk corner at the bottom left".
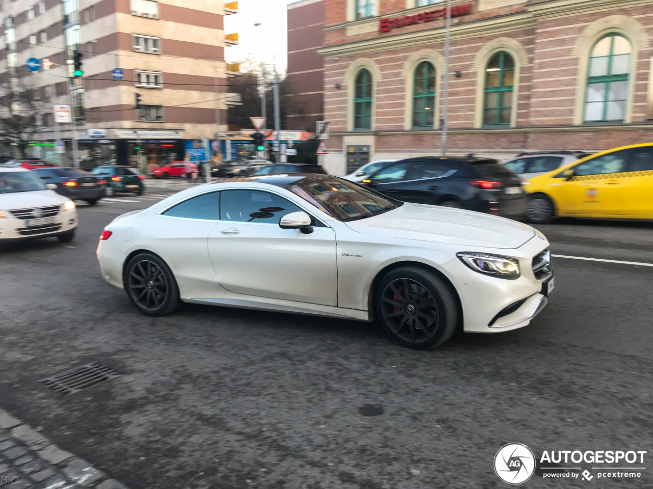
<path id="1" fill-rule="evenodd" d="M 127 489 L 0 409 L 0 488 Z"/>

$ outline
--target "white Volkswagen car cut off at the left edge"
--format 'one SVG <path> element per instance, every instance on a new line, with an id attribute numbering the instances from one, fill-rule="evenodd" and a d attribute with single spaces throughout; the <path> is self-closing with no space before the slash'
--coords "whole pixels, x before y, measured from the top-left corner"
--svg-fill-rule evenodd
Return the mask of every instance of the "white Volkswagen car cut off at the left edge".
<path id="1" fill-rule="evenodd" d="M 55 236 L 67 242 L 77 226 L 72 200 L 51 190 L 32 171 L 0 168 L 0 243 Z"/>

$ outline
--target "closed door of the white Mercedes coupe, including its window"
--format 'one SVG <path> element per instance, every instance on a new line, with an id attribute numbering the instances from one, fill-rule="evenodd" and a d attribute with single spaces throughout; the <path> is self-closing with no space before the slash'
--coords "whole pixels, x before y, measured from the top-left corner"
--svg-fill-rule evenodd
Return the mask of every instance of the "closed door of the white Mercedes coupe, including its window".
<path id="1" fill-rule="evenodd" d="M 319 222 L 310 234 L 282 230 L 282 216 L 304 209 L 263 190 L 223 190 L 220 209 L 208 239 L 220 286 L 244 295 L 336 305 L 334 230 Z"/>

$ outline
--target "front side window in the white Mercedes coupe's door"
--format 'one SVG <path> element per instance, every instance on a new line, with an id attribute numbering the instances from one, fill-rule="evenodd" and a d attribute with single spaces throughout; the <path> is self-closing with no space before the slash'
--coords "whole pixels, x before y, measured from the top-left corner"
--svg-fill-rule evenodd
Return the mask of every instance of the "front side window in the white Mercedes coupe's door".
<path id="1" fill-rule="evenodd" d="M 291 201 L 260 190 L 223 190 L 221 220 L 279 224 L 286 214 L 303 211 Z"/>

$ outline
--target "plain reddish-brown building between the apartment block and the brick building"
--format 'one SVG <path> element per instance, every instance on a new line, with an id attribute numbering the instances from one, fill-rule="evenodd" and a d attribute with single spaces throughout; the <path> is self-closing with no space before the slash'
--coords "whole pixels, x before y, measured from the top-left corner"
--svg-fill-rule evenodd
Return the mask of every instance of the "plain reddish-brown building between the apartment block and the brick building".
<path id="1" fill-rule="evenodd" d="M 325 1 L 299 0 L 288 5 L 288 80 L 301 113 L 289 114 L 288 130 L 315 130 L 323 120 Z"/>

